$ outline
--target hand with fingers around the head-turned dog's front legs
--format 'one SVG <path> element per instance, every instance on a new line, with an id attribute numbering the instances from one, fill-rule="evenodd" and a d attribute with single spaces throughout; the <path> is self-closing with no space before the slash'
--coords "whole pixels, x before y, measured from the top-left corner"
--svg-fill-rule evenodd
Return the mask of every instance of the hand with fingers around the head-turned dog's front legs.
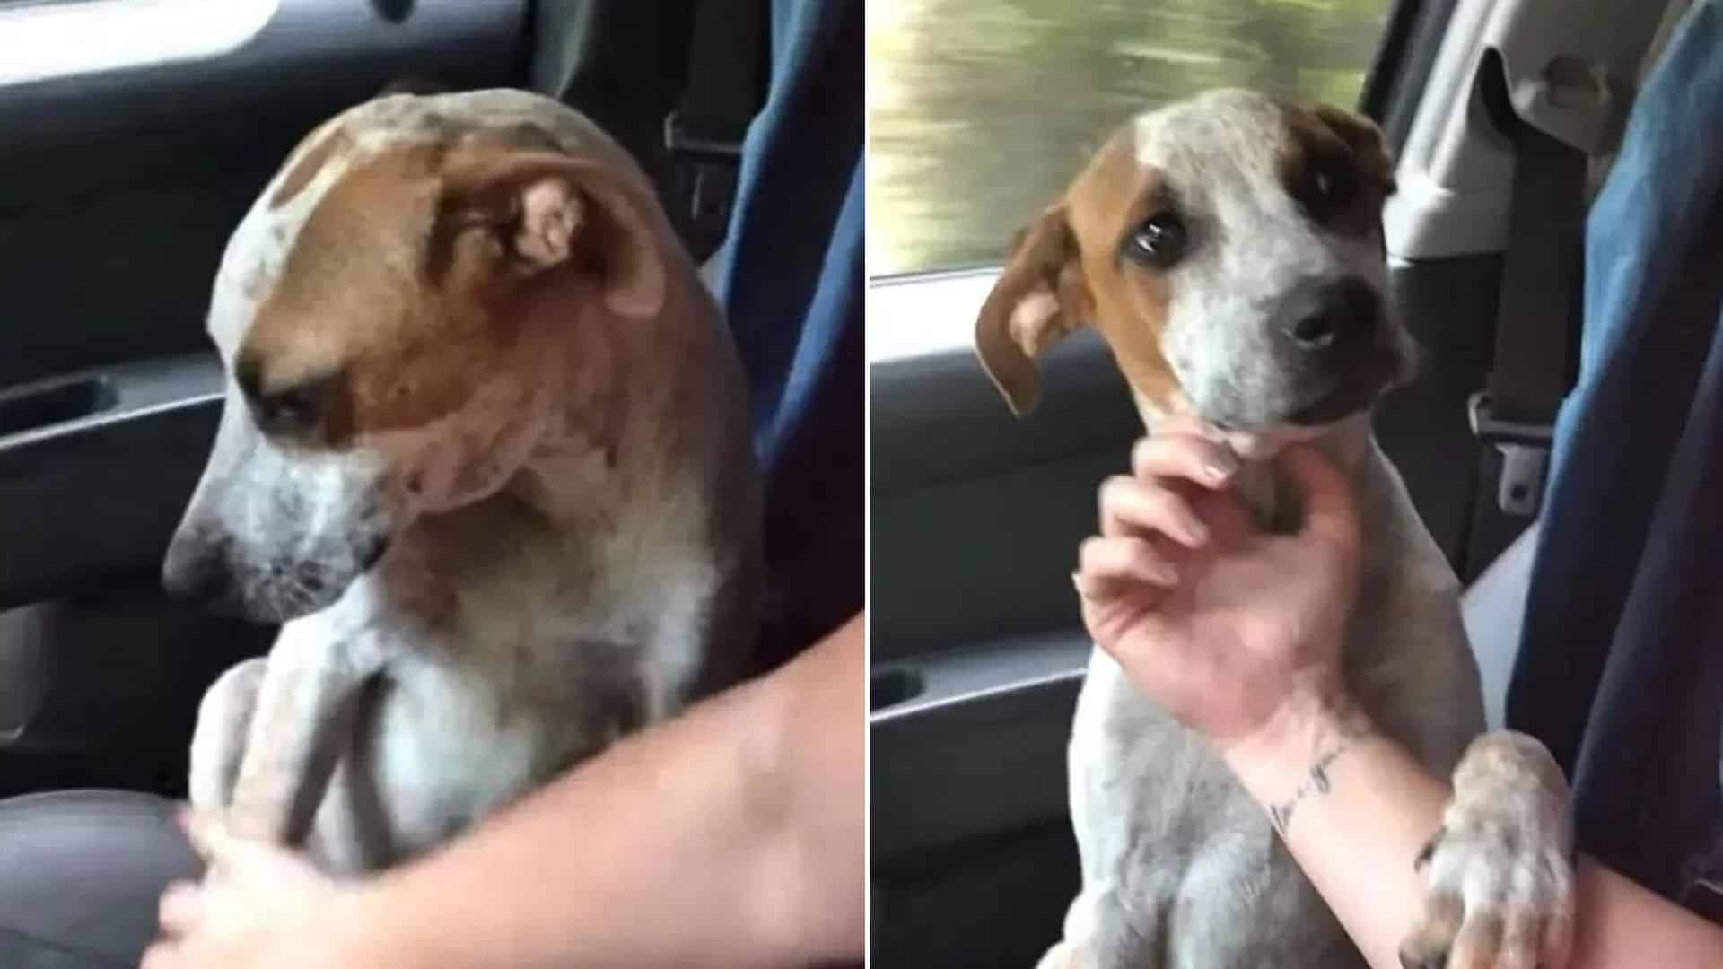
<path id="1" fill-rule="evenodd" d="M 222 821 L 186 814 L 203 857 L 202 883 L 162 893 L 160 938 L 140 969 L 369 969 L 389 964 L 364 952 L 351 917 L 355 883 L 336 881 L 305 857 L 239 838 Z"/>

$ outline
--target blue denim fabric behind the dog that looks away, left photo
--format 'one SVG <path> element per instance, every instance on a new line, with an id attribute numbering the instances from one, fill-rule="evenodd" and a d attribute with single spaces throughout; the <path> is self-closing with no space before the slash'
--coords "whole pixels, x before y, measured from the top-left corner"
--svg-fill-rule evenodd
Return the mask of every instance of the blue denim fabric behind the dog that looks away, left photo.
<path id="1" fill-rule="evenodd" d="M 763 666 L 862 607 L 862 0 L 774 0 L 770 91 L 715 255 L 767 474 Z"/>

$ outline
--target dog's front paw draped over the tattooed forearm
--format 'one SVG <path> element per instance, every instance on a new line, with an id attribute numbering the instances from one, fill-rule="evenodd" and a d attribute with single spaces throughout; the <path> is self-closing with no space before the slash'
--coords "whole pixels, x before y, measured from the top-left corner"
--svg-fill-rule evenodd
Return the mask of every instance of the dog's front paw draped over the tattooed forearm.
<path id="1" fill-rule="evenodd" d="M 1563 969 L 1573 941 L 1568 783 L 1521 733 L 1471 741 L 1442 829 L 1420 852 L 1423 914 L 1406 969 Z"/>

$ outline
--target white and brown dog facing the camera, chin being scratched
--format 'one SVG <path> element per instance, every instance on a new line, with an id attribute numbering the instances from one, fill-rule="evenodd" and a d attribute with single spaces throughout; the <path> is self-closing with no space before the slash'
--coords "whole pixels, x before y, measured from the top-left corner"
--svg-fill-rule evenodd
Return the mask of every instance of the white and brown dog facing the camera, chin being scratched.
<path id="1" fill-rule="evenodd" d="M 1370 429 L 1375 400 L 1415 372 L 1384 295 L 1392 190 L 1382 133 L 1351 112 L 1216 90 L 1141 114 L 1018 234 L 977 353 L 1023 414 L 1037 355 L 1092 326 L 1151 433 L 1172 414 L 1225 431 L 1270 528 L 1299 509 L 1268 459 L 1316 441 L 1337 460 L 1366 536 L 1344 676 L 1384 733 L 1456 785 L 1416 859 L 1428 895 L 1403 960 L 1446 966 L 1465 935 L 1480 959 L 1466 966 L 1554 969 L 1539 957 L 1571 931 L 1564 779 L 1537 741 L 1478 736 L 1459 583 Z M 1101 650 L 1068 767 L 1082 891 L 1042 966 L 1365 966 L 1270 816 Z"/>

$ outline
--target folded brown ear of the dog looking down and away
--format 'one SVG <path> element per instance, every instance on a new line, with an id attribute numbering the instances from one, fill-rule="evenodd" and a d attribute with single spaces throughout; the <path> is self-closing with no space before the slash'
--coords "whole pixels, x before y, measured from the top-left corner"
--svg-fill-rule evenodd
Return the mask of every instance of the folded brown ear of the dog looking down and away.
<path id="1" fill-rule="evenodd" d="M 443 219 L 484 226 L 527 276 L 574 266 L 600 278 L 605 305 L 656 314 L 665 264 L 653 198 L 624 174 L 553 147 L 479 150 L 445 169 Z"/>

